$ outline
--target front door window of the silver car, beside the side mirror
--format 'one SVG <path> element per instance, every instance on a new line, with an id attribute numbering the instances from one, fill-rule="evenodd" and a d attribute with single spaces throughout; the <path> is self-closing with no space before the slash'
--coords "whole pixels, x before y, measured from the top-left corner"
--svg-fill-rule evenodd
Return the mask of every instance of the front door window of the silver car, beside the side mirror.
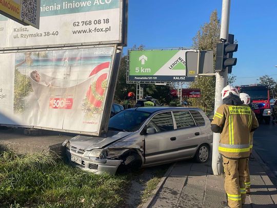
<path id="1" fill-rule="evenodd" d="M 147 128 L 154 128 L 156 132 L 173 130 L 173 121 L 171 112 L 162 112 L 155 115 L 147 124 Z"/>

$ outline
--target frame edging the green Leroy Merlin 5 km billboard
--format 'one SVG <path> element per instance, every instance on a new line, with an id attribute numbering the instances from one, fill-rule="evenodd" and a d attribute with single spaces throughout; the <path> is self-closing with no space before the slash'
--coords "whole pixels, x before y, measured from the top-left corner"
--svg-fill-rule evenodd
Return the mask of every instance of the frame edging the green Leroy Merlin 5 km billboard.
<path id="1" fill-rule="evenodd" d="M 127 84 L 188 84 L 191 82 L 186 81 L 131 81 L 129 80 L 130 75 L 130 52 L 131 51 L 154 51 L 154 50 L 162 50 L 162 51 L 172 51 L 172 50 L 193 50 L 186 47 L 179 47 L 179 48 L 152 48 L 152 49 L 128 49 L 128 55 L 127 55 L 127 72 L 126 72 L 126 83 Z"/>

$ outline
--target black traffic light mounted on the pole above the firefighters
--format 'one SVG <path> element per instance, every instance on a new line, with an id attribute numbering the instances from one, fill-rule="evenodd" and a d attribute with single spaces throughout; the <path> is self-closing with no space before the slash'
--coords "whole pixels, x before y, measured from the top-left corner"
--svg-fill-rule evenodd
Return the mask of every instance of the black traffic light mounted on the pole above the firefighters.
<path id="1" fill-rule="evenodd" d="M 236 58 L 233 52 L 238 51 L 238 44 L 230 44 L 229 42 L 221 42 L 216 45 L 216 60 L 214 72 L 224 72 L 226 67 L 236 64 Z"/>

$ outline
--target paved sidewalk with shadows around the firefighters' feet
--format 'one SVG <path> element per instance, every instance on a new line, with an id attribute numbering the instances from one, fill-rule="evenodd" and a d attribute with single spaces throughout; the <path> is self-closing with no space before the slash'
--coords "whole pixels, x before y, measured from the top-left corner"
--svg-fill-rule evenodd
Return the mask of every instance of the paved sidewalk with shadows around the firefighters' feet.
<path id="1" fill-rule="evenodd" d="M 251 194 L 244 208 L 277 207 L 277 191 L 264 166 L 253 152 L 249 161 Z M 224 177 L 212 175 L 211 161 L 207 164 L 180 161 L 169 168 L 143 207 L 219 208 L 221 201 L 226 201 Z"/>

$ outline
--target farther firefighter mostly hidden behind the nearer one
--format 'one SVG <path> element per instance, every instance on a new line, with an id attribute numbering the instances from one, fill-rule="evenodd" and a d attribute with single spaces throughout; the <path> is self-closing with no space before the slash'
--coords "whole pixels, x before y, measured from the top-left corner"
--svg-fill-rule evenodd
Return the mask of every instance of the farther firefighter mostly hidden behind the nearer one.
<path id="1" fill-rule="evenodd" d="M 246 93 L 240 93 L 240 99 L 241 101 L 249 105 L 250 104 L 250 96 Z M 250 132 L 250 137 L 249 137 L 249 147 L 250 147 L 250 154 L 252 153 L 252 148 L 253 148 L 253 134 L 254 132 Z M 249 159 L 246 160 L 247 165 L 246 165 L 246 170 L 244 171 L 244 184 L 245 184 L 245 190 L 246 194 L 250 194 L 250 185 L 251 185 L 251 180 L 250 180 L 250 173 L 249 173 Z"/>

